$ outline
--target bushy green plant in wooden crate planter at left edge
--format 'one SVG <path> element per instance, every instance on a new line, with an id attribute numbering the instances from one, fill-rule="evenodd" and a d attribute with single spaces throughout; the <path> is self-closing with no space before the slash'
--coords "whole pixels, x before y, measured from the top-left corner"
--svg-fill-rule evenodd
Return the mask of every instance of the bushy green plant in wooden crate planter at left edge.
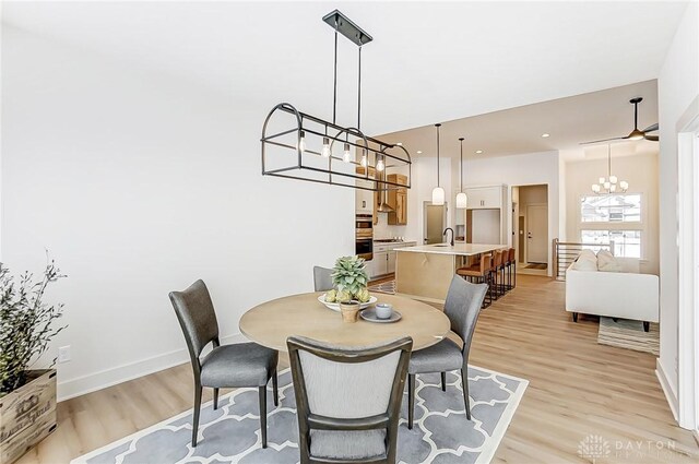
<path id="1" fill-rule="evenodd" d="M 49 261 L 42 278 L 15 277 L 0 263 L 0 462 L 11 463 L 56 428 L 56 369 L 32 369 L 64 326 L 62 305 L 47 305 L 49 284 L 63 277 Z"/>

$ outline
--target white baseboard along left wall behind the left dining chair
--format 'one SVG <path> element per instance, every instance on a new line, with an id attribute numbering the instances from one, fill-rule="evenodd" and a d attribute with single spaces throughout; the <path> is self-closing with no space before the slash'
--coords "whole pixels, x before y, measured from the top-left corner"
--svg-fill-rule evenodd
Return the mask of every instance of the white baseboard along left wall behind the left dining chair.
<path id="1" fill-rule="evenodd" d="M 222 344 L 242 343 L 247 341 L 248 340 L 240 333 L 221 337 Z M 129 362 L 111 369 L 105 369 L 87 376 L 66 380 L 63 382 L 59 382 L 57 385 L 58 401 L 66 401 L 86 393 L 92 393 L 97 390 L 106 389 L 107 386 L 138 379 L 139 377 L 147 376 L 149 373 L 168 369 L 185 362 L 189 362 L 189 353 L 186 347 L 182 347 L 181 349 L 152 356 L 135 362 Z"/>

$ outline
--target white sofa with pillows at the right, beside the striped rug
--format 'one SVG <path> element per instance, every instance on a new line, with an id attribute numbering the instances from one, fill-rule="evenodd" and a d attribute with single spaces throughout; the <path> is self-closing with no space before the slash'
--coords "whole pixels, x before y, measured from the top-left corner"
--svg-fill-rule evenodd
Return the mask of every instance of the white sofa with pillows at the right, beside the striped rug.
<path id="1" fill-rule="evenodd" d="M 649 323 L 659 321 L 657 276 L 640 274 L 633 258 L 614 258 L 611 266 L 616 272 L 600 271 L 594 253 L 583 254 L 566 270 L 566 311 L 572 312 L 573 321 L 578 313 L 631 319 L 643 321 L 648 332 Z"/>

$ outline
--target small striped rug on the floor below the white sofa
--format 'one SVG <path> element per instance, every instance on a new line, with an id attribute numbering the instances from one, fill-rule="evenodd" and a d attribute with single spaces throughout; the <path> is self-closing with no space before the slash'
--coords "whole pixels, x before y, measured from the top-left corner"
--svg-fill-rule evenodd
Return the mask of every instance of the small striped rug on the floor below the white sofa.
<path id="1" fill-rule="evenodd" d="M 628 319 L 600 318 L 597 343 L 618 346 L 660 356 L 660 325 L 651 322 L 650 331 L 643 331 L 643 322 Z"/>

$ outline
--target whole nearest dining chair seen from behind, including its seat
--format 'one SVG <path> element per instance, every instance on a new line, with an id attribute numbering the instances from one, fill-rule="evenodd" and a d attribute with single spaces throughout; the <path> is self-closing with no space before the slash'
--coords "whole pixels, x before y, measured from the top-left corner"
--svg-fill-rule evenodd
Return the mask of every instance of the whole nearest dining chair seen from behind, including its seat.
<path id="1" fill-rule="evenodd" d="M 362 348 L 292 336 L 301 464 L 395 463 L 411 337 Z"/>

